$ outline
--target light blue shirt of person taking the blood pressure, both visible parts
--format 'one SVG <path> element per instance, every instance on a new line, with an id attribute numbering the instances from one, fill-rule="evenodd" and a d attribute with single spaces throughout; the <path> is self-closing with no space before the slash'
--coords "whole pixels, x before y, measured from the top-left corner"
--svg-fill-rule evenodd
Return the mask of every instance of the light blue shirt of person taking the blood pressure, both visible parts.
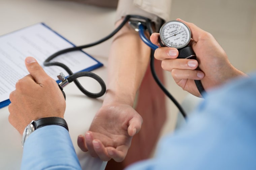
<path id="1" fill-rule="evenodd" d="M 154 159 L 127 170 L 255 170 L 256 74 L 209 92 L 179 131 L 160 141 Z M 22 170 L 81 170 L 68 131 L 37 129 L 24 145 Z"/>

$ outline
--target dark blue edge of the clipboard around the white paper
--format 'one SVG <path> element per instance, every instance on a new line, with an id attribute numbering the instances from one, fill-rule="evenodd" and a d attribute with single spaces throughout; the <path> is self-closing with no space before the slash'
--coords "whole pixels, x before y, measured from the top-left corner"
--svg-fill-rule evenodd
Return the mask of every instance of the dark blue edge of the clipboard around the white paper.
<path id="1" fill-rule="evenodd" d="M 51 31 L 53 31 L 55 34 L 57 34 L 58 36 L 60 36 L 61 38 L 63 38 L 65 41 L 69 42 L 71 45 L 75 46 L 72 42 L 70 42 L 69 40 L 67 40 L 66 38 L 64 38 L 62 35 L 60 35 L 59 33 L 57 33 L 56 31 L 54 31 L 52 28 L 50 28 L 49 26 L 47 26 L 45 23 L 41 23 L 43 26 L 45 26 L 46 28 L 50 29 Z M 8 34 L 8 33 L 7 33 Z M 91 66 L 91 67 L 88 67 L 84 70 L 81 70 L 81 71 L 92 71 L 92 70 L 95 70 L 99 67 L 102 67 L 103 64 L 101 62 L 99 62 L 98 60 L 96 60 L 95 58 L 93 58 L 91 55 L 87 54 L 86 52 L 82 51 L 81 52 L 85 53 L 86 55 L 88 55 L 89 57 L 91 57 L 93 60 L 95 60 L 97 62 L 97 64 Z M 60 82 L 59 80 L 57 80 L 56 82 Z M 10 104 L 10 100 L 7 99 L 5 101 L 2 101 L 0 102 L 0 109 L 5 107 L 5 106 L 8 106 Z"/>

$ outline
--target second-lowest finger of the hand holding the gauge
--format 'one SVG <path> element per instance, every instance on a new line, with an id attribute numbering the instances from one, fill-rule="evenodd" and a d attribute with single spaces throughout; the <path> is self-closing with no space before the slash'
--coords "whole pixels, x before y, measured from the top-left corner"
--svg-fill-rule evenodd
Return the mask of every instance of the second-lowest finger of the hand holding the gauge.
<path id="1" fill-rule="evenodd" d="M 198 62 L 190 59 L 165 59 L 161 63 L 161 67 L 169 72 L 172 72 L 175 68 L 182 70 L 194 70 L 197 66 Z"/>

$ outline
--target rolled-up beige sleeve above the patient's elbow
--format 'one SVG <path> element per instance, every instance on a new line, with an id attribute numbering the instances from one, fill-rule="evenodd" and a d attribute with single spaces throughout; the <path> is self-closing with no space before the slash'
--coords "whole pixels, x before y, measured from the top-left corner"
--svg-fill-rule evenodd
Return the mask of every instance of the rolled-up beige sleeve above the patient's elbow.
<path id="1" fill-rule="evenodd" d="M 171 0 L 119 0 L 117 21 L 128 14 L 141 15 L 158 23 L 170 20 Z"/>

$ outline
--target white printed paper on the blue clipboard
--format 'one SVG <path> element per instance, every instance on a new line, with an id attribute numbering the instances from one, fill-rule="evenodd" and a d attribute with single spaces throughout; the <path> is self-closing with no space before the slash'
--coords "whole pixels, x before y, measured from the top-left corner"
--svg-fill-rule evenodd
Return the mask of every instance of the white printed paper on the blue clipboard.
<path id="1" fill-rule="evenodd" d="M 72 46 L 70 42 L 41 23 L 0 36 L 0 102 L 9 99 L 9 94 L 15 89 L 17 80 L 28 74 L 25 66 L 26 57 L 34 57 L 43 66 L 46 58 Z M 67 65 L 72 72 L 99 64 L 82 51 L 63 54 L 52 61 Z M 56 80 L 60 72 L 68 75 L 58 66 L 43 66 L 43 68 Z"/>

